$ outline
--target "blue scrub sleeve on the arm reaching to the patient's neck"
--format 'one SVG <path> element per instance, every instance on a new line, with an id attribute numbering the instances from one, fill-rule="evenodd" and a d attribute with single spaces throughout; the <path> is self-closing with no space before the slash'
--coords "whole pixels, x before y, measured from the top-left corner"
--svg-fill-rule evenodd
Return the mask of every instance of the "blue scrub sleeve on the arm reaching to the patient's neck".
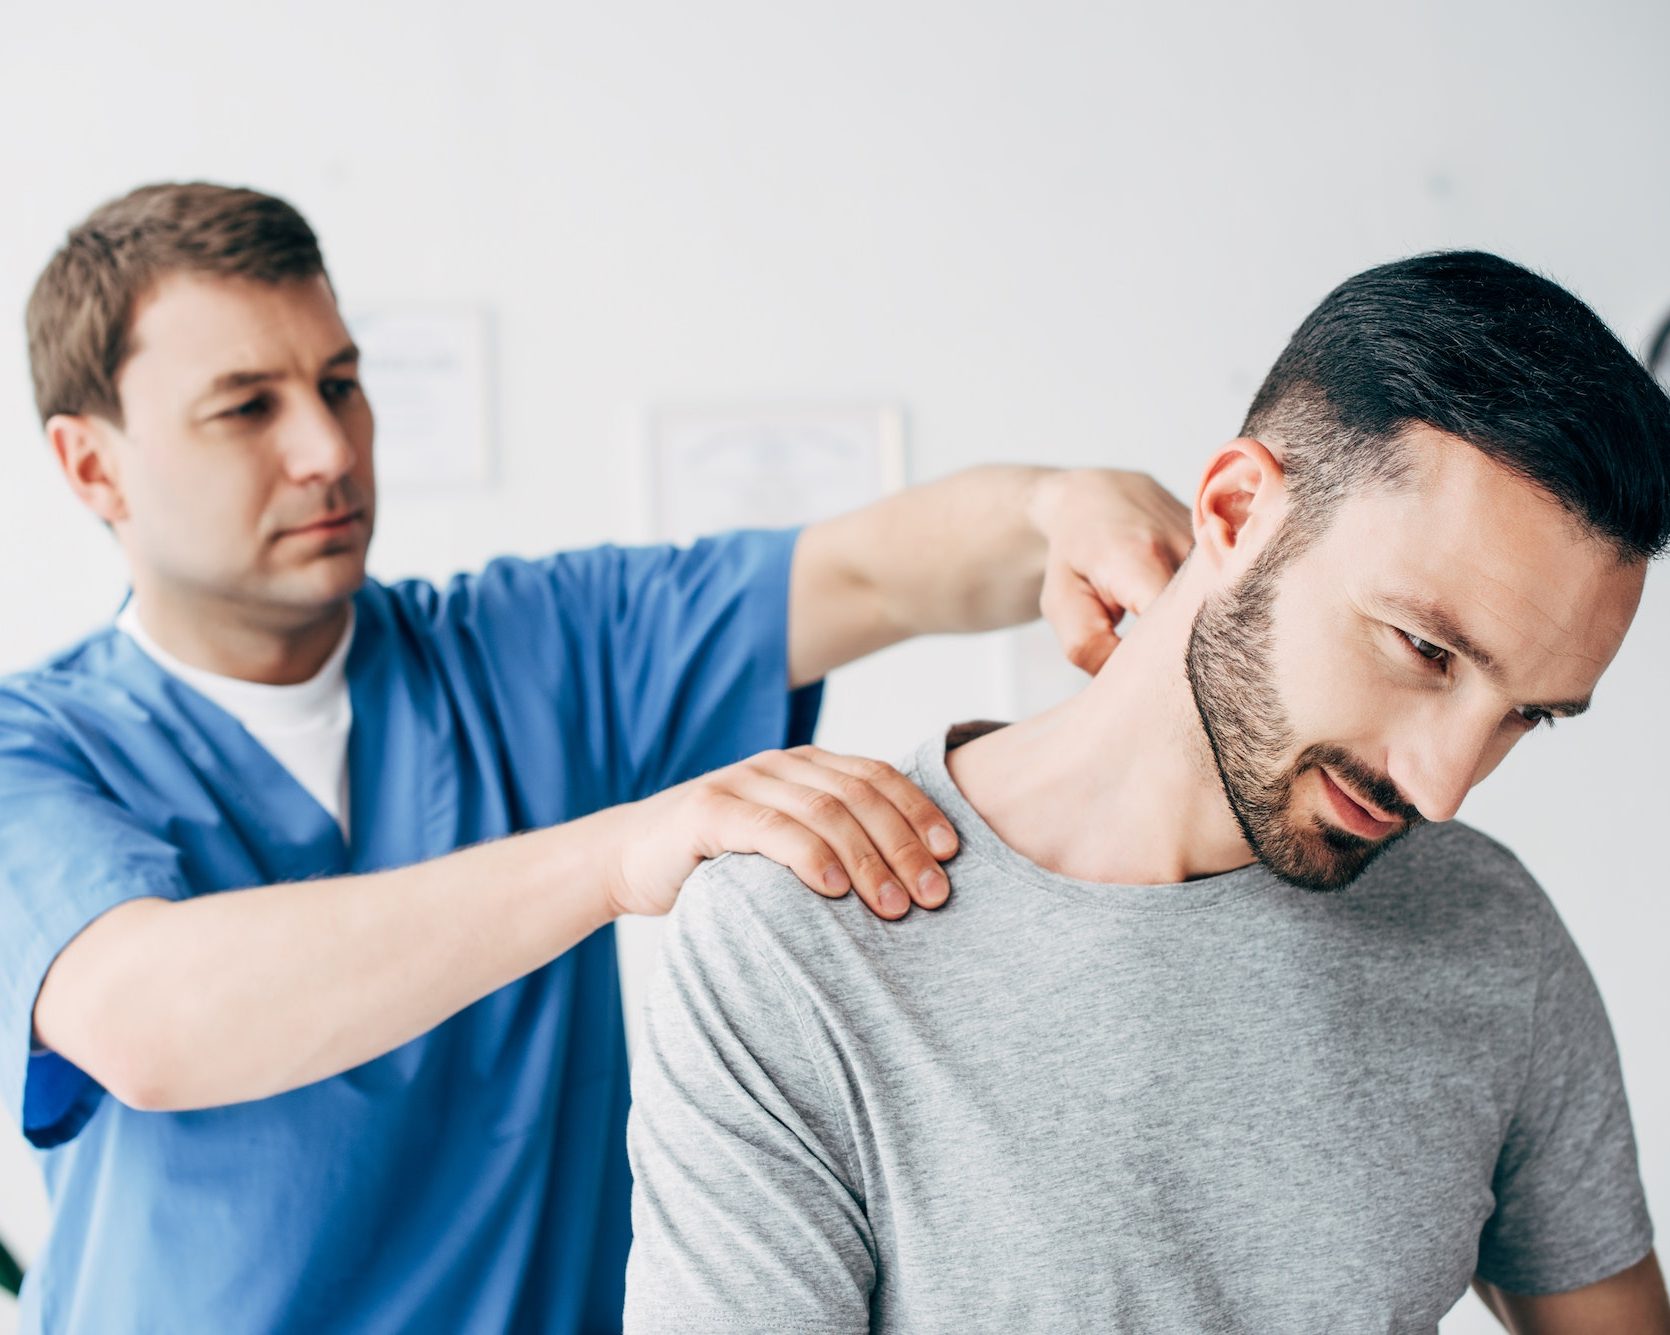
<path id="1" fill-rule="evenodd" d="M 621 802 L 810 742 L 822 687 L 788 688 L 797 538 L 494 561 L 469 615 L 494 647 L 501 713 L 531 733 L 559 720 L 558 744 L 584 744 Z"/>

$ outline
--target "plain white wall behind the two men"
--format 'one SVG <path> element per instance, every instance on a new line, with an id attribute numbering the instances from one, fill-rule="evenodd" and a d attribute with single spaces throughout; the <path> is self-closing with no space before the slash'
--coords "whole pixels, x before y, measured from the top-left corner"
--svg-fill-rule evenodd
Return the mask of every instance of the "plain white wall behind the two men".
<path id="1" fill-rule="evenodd" d="M 119 596 L 17 312 L 62 229 L 142 180 L 289 195 L 349 304 L 494 311 L 499 485 L 389 495 L 374 550 L 441 575 L 638 536 L 623 423 L 665 399 L 898 399 L 917 478 L 1121 463 L 1186 490 L 1309 306 L 1426 247 L 1528 261 L 1638 341 L 1670 306 L 1667 50 L 1657 0 L 7 5 L 0 667 Z M 825 740 L 895 755 L 1002 712 L 997 655 L 850 670 Z M 1660 1215 L 1667 655 L 1660 571 L 1602 707 L 1470 810 L 1602 981 Z M 30 1253 L 42 1226 L 7 1141 L 0 1231 Z"/>

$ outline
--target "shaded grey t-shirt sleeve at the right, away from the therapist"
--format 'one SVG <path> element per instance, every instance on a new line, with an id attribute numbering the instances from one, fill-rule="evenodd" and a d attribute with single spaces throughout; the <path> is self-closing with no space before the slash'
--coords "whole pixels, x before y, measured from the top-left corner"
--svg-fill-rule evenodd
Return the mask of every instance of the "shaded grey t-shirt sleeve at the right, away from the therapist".
<path id="1" fill-rule="evenodd" d="M 1583 956 L 1550 917 L 1531 1054 L 1496 1160 L 1496 1208 L 1478 1273 L 1510 1293 L 1563 1293 L 1652 1248 L 1635 1131 L 1607 1009 Z"/>

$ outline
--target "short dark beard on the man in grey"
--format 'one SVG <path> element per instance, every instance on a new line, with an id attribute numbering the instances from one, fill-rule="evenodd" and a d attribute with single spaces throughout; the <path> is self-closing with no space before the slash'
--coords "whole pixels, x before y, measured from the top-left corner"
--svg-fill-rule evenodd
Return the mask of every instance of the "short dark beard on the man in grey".
<path id="1" fill-rule="evenodd" d="M 1271 673 L 1273 610 L 1278 576 L 1314 540 L 1308 528 L 1289 516 L 1239 583 L 1201 607 L 1184 665 L 1217 779 L 1247 847 L 1289 886 L 1339 891 L 1421 817 L 1389 780 L 1339 747 L 1306 747 L 1296 762 L 1283 765 L 1296 737 Z M 1321 765 L 1401 817 L 1403 829 L 1363 839 L 1314 817 L 1299 824 L 1293 814 L 1294 784 Z"/>

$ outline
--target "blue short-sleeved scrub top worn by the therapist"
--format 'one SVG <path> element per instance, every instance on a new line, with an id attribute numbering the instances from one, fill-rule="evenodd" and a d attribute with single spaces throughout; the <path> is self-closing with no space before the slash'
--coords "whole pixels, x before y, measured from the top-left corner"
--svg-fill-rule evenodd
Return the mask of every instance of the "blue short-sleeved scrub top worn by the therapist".
<path id="1" fill-rule="evenodd" d="M 626 1049 L 615 934 L 341 1076 L 137 1113 L 30 1016 L 140 896 L 399 867 L 803 742 L 793 533 L 367 583 L 347 658 L 352 842 L 234 718 L 104 630 L 0 682 L 0 1098 L 50 1238 L 25 1332 L 620 1330 Z M 561 894 L 561 886 L 551 887 Z"/>

